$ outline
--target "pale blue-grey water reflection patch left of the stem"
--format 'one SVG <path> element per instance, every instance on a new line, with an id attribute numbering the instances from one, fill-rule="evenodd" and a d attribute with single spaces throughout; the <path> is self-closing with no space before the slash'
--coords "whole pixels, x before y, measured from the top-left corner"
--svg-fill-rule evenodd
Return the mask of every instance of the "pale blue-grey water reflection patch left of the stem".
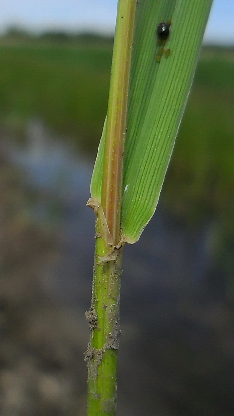
<path id="1" fill-rule="evenodd" d="M 26 169 L 29 183 L 64 201 L 84 193 L 89 195 L 92 165 L 88 159 L 75 155 L 66 140 L 54 137 L 39 119 L 28 122 L 26 137 L 26 146 L 11 145 L 9 156 Z"/>

